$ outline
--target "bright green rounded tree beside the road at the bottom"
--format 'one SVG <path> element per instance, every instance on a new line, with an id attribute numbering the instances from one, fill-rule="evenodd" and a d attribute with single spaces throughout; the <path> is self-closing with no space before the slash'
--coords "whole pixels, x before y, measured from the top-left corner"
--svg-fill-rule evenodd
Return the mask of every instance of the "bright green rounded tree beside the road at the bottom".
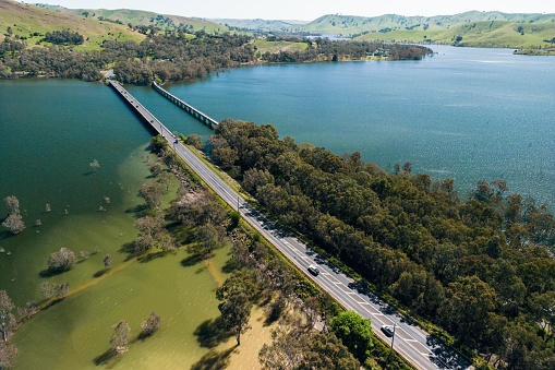
<path id="1" fill-rule="evenodd" d="M 370 357 L 372 347 L 372 324 L 354 311 L 343 311 L 331 318 L 329 326 L 359 361 Z"/>

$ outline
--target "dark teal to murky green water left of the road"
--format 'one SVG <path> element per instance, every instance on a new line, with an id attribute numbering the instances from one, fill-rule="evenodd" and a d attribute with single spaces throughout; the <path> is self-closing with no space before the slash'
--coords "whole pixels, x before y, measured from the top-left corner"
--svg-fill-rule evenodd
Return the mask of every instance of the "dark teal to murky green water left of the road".
<path id="1" fill-rule="evenodd" d="M 133 210 L 143 203 L 137 191 L 149 176 L 149 139 L 141 121 L 101 84 L 0 82 L 0 196 L 19 198 L 26 224 L 16 236 L 0 230 L 5 250 L 0 253 L 0 289 L 17 306 L 39 300 L 46 281 L 69 282 L 71 291 L 16 332 L 16 369 L 189 368 L 209 350 L 194 332 L 218 317 L 213 275 L 225 276 L 228 250 L 212 261 L 213 274 L 204 263 L 182 266 L 183 251 L 148 263 L 125 262 L 120 251 L 136 238 Z M 93 159 L 100 164 L 97 172 L 88 165 Z M 167 201 L 176 189 L 173 183 Z M 100 205 L 107 211 L 98 212 Z M 3 215 L 3 201 L 0 210 Z M 39 227 L 34 226 L 37 218 Z M 61 247 L 76 255 L 95 247 L 100 252 L 70 272 L 40 277 L 50 253 Z M 106 253 L 113 258 L 113 271 L 95 277 Z M 136 337 L 152 311 L 164 320 L 158 333 L 134 343 L 121 359 L 95 365 L 109 347 L 112 325 L 124 319 Z"/>

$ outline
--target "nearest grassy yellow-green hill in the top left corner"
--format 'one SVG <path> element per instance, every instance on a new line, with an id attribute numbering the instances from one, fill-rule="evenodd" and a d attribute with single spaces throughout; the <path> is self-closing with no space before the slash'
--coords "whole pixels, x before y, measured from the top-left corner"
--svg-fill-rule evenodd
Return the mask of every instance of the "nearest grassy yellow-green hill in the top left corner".
<path id="1" fill-rule="evenodd" d="M 63 29 L 83 35 L 85 43 L 76 47 L 80 49 L 98 49 L 105 39 L 141 41 L 145 38 L 124 25 L 88 20 L 12 0 L 0 0 L 0 40 L 9 34 L 8 28 L 11 29 L 13 38 L 23 39 L 29 46 L 49 45 L 40 41 L 45 34 Z"/>

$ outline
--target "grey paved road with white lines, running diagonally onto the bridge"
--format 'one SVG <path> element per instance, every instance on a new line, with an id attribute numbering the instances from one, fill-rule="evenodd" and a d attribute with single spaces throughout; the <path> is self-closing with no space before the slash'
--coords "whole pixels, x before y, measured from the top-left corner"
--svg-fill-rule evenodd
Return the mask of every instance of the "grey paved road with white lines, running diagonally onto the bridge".
<path id="1" fill-rule="evenodd" d="M 382 325 L 394 325 L 395 350 L 418 369 L 472 369 L 470 363 L 461 356 L 457 356 L 439 341 L 411 324 L 394 308 L 370 291 L 363 291 L 358 284 L 346 276 L 339 268 L 324 258 L 306 248 L 297 238 L 279 229 L 274 223 L 257 212 L 239 193 L 229 187 L 218 175 L 206 166 L 181 142 L 177 142 L 173 134 L 143 107 L 136 99 L 126 93 L 119 84 L 114 85 L 120 95 L 150 123 L 176 151 L 176 153 L 193 169 L 222 200 L 232 208 L 239 210 L 243 218 L 272 242 L 299 270 L 304 272 L 315 284 L 319 285 L 331 297 L 337 299 L 345 308 L 357 311 L 362 317 L 371 319 L 374 333 L 386 343 L 391 338 L 386 336 Z M 118 85 L 118 86 L 116 86 Z M 307 266 L 317 265 L 321 274 L 313 276 Z"/>

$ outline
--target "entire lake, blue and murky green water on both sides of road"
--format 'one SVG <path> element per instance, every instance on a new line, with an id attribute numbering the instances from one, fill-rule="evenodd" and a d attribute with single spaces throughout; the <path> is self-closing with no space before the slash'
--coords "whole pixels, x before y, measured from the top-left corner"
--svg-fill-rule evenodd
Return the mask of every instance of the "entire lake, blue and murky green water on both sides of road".
<path id="1" fill-rule="evenodd" d="M 263 65 L 165 87 L 218 120 L 272 123 L 281 136 L 337 154 L 360 151 L 387 170 L 411 162 L 435 180 L 454 178 L 462 195 L 480 179 L 504 178 L 511 191 L 554 205 L 555 58 L 433 48 L 422 61 Z M 126 87 L 171 130 L 210 134 L 150 87 Z M 136 335 L 153 310 L 165 326 L 118 367 L 190 367 L 209 353 L 194 332 L 218 317 L 214 271 L 228 251 L 218 252 L 213 273 L 202 263 L 182 266 L 184 251 L 146 264 L 126 264 L 121 252 L 136 237 L 132 210 L 149 175 L 149 138 L 99 83 L 0 81 L 0 198 L 20 199 L 27 226 L 17 236 L 0 231 L 0 289 L 17 306 L 39 299 L 50 253 L 100 249 L 48 279 L 81 290 L 17 332 L 20 368 L 94 368 L 111 325 L 126 319 Z M 105 253 L 114 272 L 96 278 Z"/>

